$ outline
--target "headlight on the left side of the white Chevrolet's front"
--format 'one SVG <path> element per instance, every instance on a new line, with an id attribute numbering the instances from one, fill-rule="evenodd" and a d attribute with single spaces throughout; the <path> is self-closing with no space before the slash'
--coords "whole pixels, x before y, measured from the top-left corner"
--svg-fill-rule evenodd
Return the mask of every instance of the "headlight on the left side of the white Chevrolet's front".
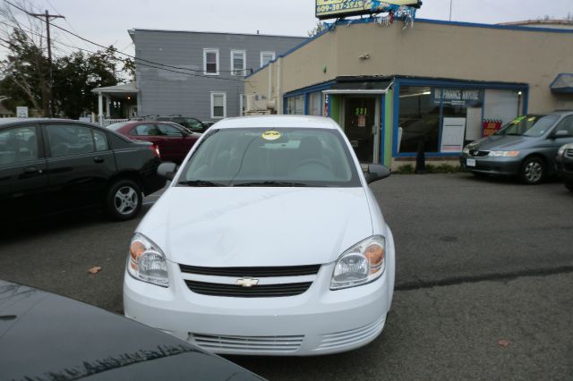
<path id="1" fill-rule="evenodd" d="M 139 233 L 133 234 L 129 245 L 127 272 L 140 281 L 169 287 L 165 255 L 153 242 Z"/>

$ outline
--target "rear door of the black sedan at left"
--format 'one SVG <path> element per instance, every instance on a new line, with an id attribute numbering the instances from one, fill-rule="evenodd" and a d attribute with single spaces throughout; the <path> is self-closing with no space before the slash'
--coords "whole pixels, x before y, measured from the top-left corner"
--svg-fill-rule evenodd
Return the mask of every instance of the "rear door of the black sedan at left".
<path id="1" fill-rule="evenodd" d="M 107 132 L 75 123 L 50 123 L 44 131 L 53 205 L 61 210 L 101 204 L 115 174 Z"/>

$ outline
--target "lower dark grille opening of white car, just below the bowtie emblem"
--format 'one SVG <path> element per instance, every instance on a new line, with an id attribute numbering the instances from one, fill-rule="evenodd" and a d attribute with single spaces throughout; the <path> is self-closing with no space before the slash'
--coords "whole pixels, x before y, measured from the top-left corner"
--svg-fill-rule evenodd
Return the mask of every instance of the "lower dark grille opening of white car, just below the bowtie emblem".
<path id="1" fill-rule="evenodd" d="M 312 282 L 296 284 L 257 284 L 252 287 L 243 287 L 236 284 L 213 284 L 185 279 L 189 290 L 201 295 L 229 296 L 235 298 L 276 298 L 295 296 L 306 292 Z"/>

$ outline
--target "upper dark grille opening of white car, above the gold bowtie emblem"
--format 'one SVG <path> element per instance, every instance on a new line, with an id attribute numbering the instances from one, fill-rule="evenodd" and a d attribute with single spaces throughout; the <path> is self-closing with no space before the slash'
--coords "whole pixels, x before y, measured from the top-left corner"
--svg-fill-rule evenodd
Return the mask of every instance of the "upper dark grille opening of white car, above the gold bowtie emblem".
<path id="1" fill-rule="evenodd" d="M 315 275 L 319 272 L 321 265 L 284 267 L 197 267 L 179 265 L 179 268 L 185 274 L 263 278 L 269 276 Z"/>

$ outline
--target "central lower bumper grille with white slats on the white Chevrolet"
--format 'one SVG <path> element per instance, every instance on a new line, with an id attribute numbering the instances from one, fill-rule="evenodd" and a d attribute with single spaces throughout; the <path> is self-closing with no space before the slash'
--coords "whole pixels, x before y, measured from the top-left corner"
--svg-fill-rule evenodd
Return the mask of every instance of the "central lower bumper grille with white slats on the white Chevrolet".
<path id="1" fill-rule="evenodd" d="M 192 334 L 194 342 L 208 351 L 256 351 L 288 353 L 297 351 L 304 335 L 293 336 L 222 336 L 215 334 Z"/>

